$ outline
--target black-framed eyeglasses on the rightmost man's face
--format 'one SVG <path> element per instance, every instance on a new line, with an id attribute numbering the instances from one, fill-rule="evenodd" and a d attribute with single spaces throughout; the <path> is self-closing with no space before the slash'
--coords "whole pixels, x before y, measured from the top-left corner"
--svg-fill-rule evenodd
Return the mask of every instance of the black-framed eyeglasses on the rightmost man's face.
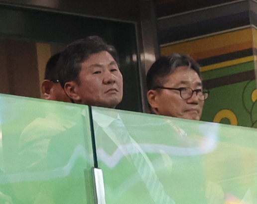
<path id="1" fill-rule="evenodd" d="M 195 89 L 192 90 L 189 87 L 181 87 L 178 89 L 175 88 L 168 88 L 168 87 L 155 87 L 155 89 L 168 89 L 168 90 L 176 90 L 180 92 L 180 97 L 184 100 L 190 99 L 194 92 L 196 93 L 196 96 L 198 97 L 199 101 L 204 101 L 208 98 L 210 92 L 208 90 L 202 90 L 202 89 Z"/>

